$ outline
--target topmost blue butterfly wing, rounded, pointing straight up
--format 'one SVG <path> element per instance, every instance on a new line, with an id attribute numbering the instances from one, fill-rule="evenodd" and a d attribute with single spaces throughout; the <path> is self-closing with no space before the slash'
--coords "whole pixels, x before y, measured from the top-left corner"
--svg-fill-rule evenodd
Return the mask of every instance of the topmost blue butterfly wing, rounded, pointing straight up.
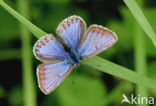
<path id="1" fill-rule="evenodd" d="M 70 16 L 63 20 L 56 33 L 73 49 L 77 50 L 84 39 L 86 24 L 79 16 Z"/>

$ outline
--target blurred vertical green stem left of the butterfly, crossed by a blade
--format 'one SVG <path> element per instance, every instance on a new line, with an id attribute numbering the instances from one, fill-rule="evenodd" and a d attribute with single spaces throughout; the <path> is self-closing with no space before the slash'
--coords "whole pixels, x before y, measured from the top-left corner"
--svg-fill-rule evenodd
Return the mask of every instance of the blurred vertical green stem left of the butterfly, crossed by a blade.
<path id="1" fill-rule="evenodd" d="M 29 0 L 18 0 L 18 10 L 25 16 L 29 17 Z M 22 43 L 22 78 L 23 78 L 23 104 L 24 106 L 37 106 L 36 104 L 36 89 L 33 78 L 32 67 L 32 48 L 31 48 L 31 34 L 27 27 L 19 24 L 21 43 Z"/>

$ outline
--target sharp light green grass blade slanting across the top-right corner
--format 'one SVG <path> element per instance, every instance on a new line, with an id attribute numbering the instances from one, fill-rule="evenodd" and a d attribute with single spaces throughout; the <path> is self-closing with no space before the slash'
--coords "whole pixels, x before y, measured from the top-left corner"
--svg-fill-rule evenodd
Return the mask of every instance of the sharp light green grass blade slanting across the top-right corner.
<path id="1" fill-rule="evenodd" d="M 123 0 L 129 10 L 132 12 L 133 16 L 136 18 L 142 29 L 145 31 L 145 33 L 151 38 L 154 45 L 156 46 L 156 34 L 153 31 L 151 25 L 147 21 L 146 17 L 144 16 L 143 12 L 137 5 L 135 0 Z"/>

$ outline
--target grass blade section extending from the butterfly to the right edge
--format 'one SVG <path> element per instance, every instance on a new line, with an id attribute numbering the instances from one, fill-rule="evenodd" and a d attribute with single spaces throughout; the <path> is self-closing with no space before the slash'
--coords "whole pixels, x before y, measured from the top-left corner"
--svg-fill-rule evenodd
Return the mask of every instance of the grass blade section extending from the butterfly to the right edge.
<path id="1" fill-rule="evenodd" d="M 98 56 L 94 56 L 93 58 L 83 61 L 82 63 L 135 84 L 156 89 L 156 81 L 139 75 L 130 69 L 119 66 Z"/>

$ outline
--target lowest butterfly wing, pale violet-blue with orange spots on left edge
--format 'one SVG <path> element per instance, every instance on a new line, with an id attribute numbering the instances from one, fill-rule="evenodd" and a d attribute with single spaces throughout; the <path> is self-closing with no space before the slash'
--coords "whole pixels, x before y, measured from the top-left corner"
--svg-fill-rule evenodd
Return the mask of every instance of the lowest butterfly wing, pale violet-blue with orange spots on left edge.
<path id="1" fill-rule="evenodd" d="M 65 79 L 74 65 L 65 60 L 53 64 L 41 64 L 37 68 L 37 78 L 40 89 L 49 94 Z"/>

